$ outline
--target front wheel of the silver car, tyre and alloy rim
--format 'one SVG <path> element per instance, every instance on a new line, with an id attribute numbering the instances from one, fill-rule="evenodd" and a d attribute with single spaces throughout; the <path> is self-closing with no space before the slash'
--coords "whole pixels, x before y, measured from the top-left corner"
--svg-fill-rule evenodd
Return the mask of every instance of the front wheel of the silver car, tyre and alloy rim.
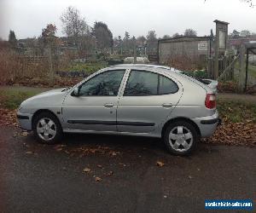
<path id="1" fill-rule="evenodd" d="M 44 144 L 55 144 L 63 135 L 60 121 L 50 112 L 41 112 L 33 119 L 32 131 L 37 141 Z"/>

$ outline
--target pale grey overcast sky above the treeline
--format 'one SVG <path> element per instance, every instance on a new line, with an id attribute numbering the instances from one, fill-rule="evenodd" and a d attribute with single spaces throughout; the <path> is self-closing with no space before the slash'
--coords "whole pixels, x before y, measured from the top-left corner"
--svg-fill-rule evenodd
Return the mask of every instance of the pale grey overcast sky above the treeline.
<path id="1" fill-rule="evenodd" d="M 108 24 L 113 36 L 130 32 L 158 37 L 193 28 L 198 36 L 215 31 L 215 19 L 230 22 L 229 31 L 256 32 L 256 7 L 241 0 L 0 0 L 0 37 L 14 30 L 17 38 L 38 37 L 48 23 L 61 32 L 60 16 L 68 6 L 79 9 L 87 24 L 96 20 Z"/>

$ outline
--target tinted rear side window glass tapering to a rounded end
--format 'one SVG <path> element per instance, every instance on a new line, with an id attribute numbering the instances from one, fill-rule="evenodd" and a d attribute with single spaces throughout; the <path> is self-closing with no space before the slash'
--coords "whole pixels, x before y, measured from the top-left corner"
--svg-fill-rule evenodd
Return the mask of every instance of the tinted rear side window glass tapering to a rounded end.
<path id="1" fill-rule="evenodd" d="M 131 71 L 124 96 L 165 95 L 176 93 L 177 84 L 154 72 Z"/>

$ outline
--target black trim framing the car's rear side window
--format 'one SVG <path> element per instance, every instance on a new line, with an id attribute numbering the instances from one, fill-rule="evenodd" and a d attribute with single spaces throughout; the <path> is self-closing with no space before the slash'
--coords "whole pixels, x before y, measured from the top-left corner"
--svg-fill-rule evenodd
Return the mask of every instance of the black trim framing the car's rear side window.
<path id="1" fill-rule="evenodd" d="M 125 95 L 125 89 L 126 89 L 126 86 L 127 86 L 128 81 L 129 81 L 129 79 L 130 79 L 130 76 L 131 76 L 131 72 L 132 72 L 132 71 L 137 71 L 137 72 L 151 72 L 151 73 L 153 73 L 153 74 L 156 74 L 156 75 L 157 75 L 157 78 L 158 78 L 158 83 L 157 83 L 157 95 Z M 164 77 L 164 78 L 167 78 L 167 79 L 171 80 L 173 83 L 175 83 L 176 86 L 177 86 L 177 90 L 176 90 L 175 92 L 172 92 L 172 93 L 159 94 L 159 91 L 160 91 L 160 76 L 162 76 L 162 77 Z M 172 78 L 169 78 L 169 77 L 167 77 L 167 76 L 165 76 L 165 75 L 163 75 L 163 74 L 161 74 L 161 73 L 159 73 L 159 72 L 152 72 L 152 71 L 148 71 L 148 70 L 135 70 L 135 69 L 131 69 L 130 72 L 129 72 L 129 76 L 128 76 L 128 78 L 127 78 L 127 80 L 126 80 L 126 83 L 125 83 L 125 88 L 124 88 L 124 91 L 123 91 L 123 96 L 124 96 L 124 97 L 142 97 L 142 96 L 171 95 L 171 94 L 177 93 L 178 90 L 179 90 L 178 84 L 177 84 L 174 80 L 172 80 Z"/>

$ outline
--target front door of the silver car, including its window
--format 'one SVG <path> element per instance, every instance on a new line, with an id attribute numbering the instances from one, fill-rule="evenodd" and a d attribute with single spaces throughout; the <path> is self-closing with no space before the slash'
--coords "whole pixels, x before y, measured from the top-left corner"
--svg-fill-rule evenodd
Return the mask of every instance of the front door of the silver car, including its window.
<path id="1" fill-rule="evenodd" d="M 71 92 L 63 102 L 66 129 L 116 131 L 119 87 L 125 70 L 97 74 L 79 86 L 79 95 Z"/>

